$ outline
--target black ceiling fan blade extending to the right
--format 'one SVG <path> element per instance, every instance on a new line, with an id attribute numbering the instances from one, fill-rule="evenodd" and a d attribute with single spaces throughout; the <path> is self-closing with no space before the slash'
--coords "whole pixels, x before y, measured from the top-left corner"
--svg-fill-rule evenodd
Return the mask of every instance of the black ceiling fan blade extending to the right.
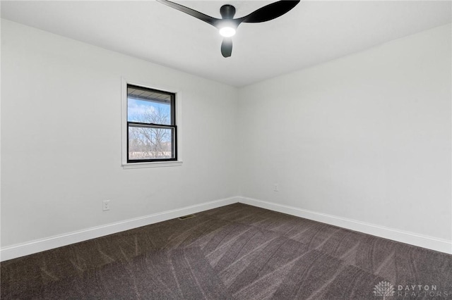
<path id="1" fill-rule="evenodd" d="M 268 4 L 267 6 L 263 6 L 262 8 L 259 8 L 257 11 L 254 11 L 249 15 L 245 15 L 244 17 L 239 18 L 237 20 L 240 20 L 243 23 L 261 23 L 273 20 L 290 11 L 297 4 L 299 4 L 299 1 L 300 0 L 296 1 L 282 0 L 274 2 L 272 4 Z"/>

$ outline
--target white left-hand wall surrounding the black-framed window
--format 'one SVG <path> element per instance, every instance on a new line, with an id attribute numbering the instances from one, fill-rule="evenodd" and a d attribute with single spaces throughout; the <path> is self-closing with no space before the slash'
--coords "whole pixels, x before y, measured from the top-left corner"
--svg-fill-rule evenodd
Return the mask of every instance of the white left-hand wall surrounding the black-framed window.
<path id="1" fill-rule="evenodd" d="M 1 42 L 2 246 L 237 195 L 236 88 L 6 20 Z M 121 77 L 182 92 L 182 166 L 121 168 Z"/>

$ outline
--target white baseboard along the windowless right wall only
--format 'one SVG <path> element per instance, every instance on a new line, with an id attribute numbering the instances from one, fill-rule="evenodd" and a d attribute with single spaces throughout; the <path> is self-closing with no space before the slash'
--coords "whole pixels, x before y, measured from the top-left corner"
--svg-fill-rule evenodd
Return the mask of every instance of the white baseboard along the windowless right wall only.
<path id="1" fill-rule="evenodd" d="M 278 211 L 280 213 L 287 213 L 287 215 L 295 215 L 301 218 L 307 218 L 309 220 L 319 221 L 338 227 L 355 230 L 358 232 L 367 233 L 369 235 L 375 235 L 376 237 L 383 237 L 385 239 L 392 239 L 393 241 L 403 242 L 405 244 L 411 244 L 414 246 L 420 246 L 435 251 L 444 252 L 446 254 L 452 254 L 452 241 L 447 239 L 439 239 L 436 237 L 429 237 L 427 235 L 420 235 L 414 232 L 406 232 L 403 230 L 396 230 L 380 225 L 374 225 L 371 223 L 364 223 L 357 220 L 351 220 L 347 218 L 340 218 L 335 215 L 328 215 L 326 213 L 317 213 L 315 211 L 307 211 L 302 208 L 296 208 L 293 206 L 285 206 L 281 204 L 275 204 L 267 201 L 261 201 L 258 199 L 252 199 L 247 197 L 239 197 L 239 202 L 243 204 L 249 204 L 251 206 L 257 206 L 266 208 L 271 211 Z"/>

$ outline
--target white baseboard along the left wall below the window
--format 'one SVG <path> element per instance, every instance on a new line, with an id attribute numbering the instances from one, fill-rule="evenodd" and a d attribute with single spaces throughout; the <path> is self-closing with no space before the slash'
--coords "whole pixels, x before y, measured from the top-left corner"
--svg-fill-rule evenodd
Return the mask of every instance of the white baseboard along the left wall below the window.
<path id="1" fill-rule="evenodd" d="M 113 233 L 121 232 L 124 230 L 131 230 L 133 228 L 179 218 L 182 215 L 189 215 L 191 213 L 207 211 L 212 208 L 218 208 L 220 206 L 237 203 L 238 200 L 238 197 L 230 197 L 227 199 L 220 199 L 217 201 L 210 201 L 203 204 L 196 204 L 194 206 L 174 209 L 172 211 L 164 211 L 162 213 L 154 213 L 153 215 L 145 215 L 140 218 L 133 218 L 117 223 L 91 227 L 85 230 L 78 230 L 76 232 L 69 232 L 64 235 L 56 235 L 54 237 L 37 239 L 35 241 L 26 242 L 23 244 L 6 246 L 0 249 L 0 261 L 7 261 L 8 259 L 18 258 L 20 256 L 35 254 L 37 252 L 46 251 L 61 246 L 83 242 L 88 239 L 95 239 L 96 237 L 112 235 Z"/>

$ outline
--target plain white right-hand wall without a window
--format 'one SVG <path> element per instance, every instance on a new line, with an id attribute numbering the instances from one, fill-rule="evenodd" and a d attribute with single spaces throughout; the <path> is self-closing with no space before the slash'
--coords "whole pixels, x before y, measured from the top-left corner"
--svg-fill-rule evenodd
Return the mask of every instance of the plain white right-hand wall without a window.
<path id="1" fill-rule="evenodd" d="M 239 96 L 242 196 L 451 240 L 450 24 Z"/>

